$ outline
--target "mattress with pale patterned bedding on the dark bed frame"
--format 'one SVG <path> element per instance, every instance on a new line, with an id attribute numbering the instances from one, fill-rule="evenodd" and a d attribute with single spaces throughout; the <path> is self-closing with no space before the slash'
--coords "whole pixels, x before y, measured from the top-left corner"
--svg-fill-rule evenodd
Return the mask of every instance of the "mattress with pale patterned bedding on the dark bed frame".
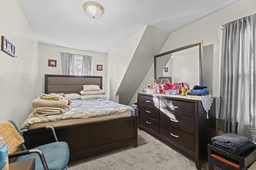
<path id="1" fill-rule="evenodd" d="M 27 117 L 20 130 L 52 126 L 59 127 L 92 121 L 103 121 L 134 115 L 132 107 L 118 104 L 105 98 L 72 100 L 63 114 L 36 116 L 33 112 Z"/>

